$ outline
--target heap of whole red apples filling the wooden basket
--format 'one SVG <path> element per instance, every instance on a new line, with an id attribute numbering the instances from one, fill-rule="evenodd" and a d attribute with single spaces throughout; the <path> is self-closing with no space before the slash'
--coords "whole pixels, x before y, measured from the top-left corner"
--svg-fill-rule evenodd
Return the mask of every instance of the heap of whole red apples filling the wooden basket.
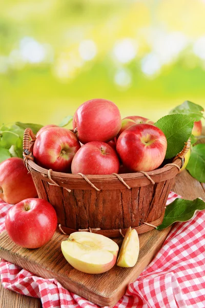
<path id="1" fill-rule="evenodd" d="M 154 170 L 165 159 L 167 140 L 153 124 L 138 116 L 121 120 L 111 101 L 90 100 L 76 110 L 73 131 L 56 125 L 40 129 L 33 156 L 46 169 L 73 174 Z"/>

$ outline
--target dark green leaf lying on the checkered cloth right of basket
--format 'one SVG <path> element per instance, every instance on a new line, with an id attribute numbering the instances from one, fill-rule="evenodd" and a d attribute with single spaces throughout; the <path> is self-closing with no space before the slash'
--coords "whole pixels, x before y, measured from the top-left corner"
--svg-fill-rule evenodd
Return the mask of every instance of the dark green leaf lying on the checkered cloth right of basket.
<path id="1" fill-rule="evenodd" d="M 193 201 L 177 198 L 167 206 L 162 224 L 157 227 L 157 230 L 165 229 L 176 221 L 188 221 L 196 211 L 203 209 L 205 209 L 205 202 L 199 198 Z"/>

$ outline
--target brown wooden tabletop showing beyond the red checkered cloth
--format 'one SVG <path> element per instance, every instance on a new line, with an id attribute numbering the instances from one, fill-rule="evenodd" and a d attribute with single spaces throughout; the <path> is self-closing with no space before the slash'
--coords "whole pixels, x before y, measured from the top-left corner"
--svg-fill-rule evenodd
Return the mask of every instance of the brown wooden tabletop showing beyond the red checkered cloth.
<path id="1" fill-rule="evenodd" d="M 205 139 L 202 141 L 205 143 Z M 192 178 L 187 170 L 177 175 L 176 185 L 173 190 L 186 199 L 193 200 L 200 197 L 205 200 L 205 184 L 201 184 Z M 5 290 L 4 287 L 0 284 L 0 307 L 39 308 L 42 307 L 42 304 L 39 299 L 25 295 L 19 295 L 13 291 Z"/>

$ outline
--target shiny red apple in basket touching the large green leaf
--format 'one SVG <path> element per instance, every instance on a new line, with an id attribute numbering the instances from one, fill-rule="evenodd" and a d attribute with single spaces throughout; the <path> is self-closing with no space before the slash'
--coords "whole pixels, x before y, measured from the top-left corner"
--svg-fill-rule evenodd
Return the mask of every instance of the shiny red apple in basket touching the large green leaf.
<path id="1" fill-rule="evenodd" d="M 116 150 L 122 164 L 129 170 L 151 171 L 165 159 L 167 139 L 165 134 L 152 124 L 136 124 L 122 132 Z"/>

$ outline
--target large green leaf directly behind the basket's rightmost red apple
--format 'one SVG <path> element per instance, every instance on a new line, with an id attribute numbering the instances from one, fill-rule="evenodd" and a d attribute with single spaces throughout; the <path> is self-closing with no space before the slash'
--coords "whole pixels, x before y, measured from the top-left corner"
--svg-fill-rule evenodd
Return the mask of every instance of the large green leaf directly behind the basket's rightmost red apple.
<path id="1" fill-rule="evenodd" d="M 189 139 L 194 119 L 185 114 L 170 114 L 159 119 L 155 126 L 160 128 L 167 138 L 166 159 L 176 156 Z"/>

